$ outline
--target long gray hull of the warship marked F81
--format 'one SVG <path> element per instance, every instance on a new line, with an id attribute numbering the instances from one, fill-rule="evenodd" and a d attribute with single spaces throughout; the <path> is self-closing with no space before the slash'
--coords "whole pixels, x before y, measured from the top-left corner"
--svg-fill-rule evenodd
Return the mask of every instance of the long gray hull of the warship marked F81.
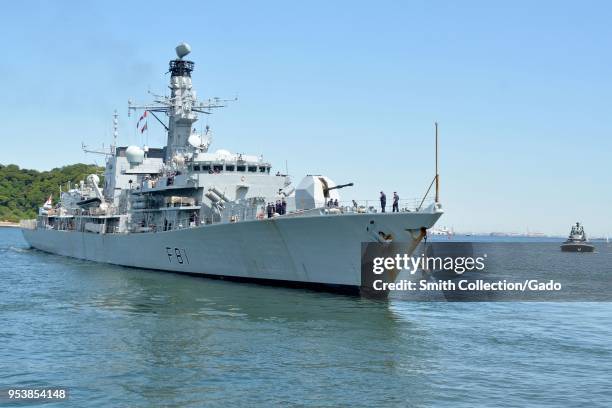
<path id="1" fill-rule="evenodd" d="M 137 268 L 285 286 L 361 286 L 361 243 L 380 232 L 412 253 L 441 213 L 283 217 L 175 231 L 96 234 L 23 229 L 42 251 Z"/>

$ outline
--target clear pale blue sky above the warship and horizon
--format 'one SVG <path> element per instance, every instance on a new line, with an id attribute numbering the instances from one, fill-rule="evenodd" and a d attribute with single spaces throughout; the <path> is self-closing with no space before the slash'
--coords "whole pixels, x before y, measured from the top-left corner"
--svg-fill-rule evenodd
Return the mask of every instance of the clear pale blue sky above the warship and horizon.
<path id="1" fill-rule="evenodd" d="M 191 44 L 212 149 L 330 176 L 346 199 L 422 195 L 440 123 L 440 225 L 612 235 L 608 1 L 7 2 L 0 163 L 102 164 L 81 142 L 143 143 L 127 100 L 166 92 Z M 149 144 L 161 126 L 149 123 Z"/>

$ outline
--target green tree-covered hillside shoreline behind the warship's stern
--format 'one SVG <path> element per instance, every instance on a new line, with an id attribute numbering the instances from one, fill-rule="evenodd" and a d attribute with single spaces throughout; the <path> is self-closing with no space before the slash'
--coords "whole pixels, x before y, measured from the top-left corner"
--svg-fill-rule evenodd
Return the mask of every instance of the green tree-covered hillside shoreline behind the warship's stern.
<path id="1" fill-rule="evenodd" d="M 20 169 L 14 164 L 0 164 L 0 221 L 17 222 L 34 218 L 49 195 L 53 203 L 70 182 L 74 186 L 88 174 L 100 174 L 103 168 L 94 164 L 72 164 L 49 171 Z"/>

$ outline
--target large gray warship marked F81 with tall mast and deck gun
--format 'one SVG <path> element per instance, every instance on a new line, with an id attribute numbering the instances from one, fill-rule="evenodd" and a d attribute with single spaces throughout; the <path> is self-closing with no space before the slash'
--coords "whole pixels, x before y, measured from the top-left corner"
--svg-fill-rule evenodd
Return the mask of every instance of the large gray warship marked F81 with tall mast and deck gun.
<path id="1" fill-rule="evenodd" d="M 98 151 L 106 155 L 103 181 L 91 174 L 55 205 L 50 197 L 35 220 L 22 221 L 31 247 L 126 267 L 359 294 L 361 243 L 402 243 L 410 254 L 442 215 L 437 125 L 436 174 L 425 197 L 401 200 L 398 212 L 380 211 L 377 200 L 343 201 L 340 190 L 352 183 L 306 175 L 295 184 L 263 156 L 210 150 L 212 131 L 194 124 L 227 101 L 197 100 L 190 52 L 186 43 L 176 47 L 169 95 L 128 102 L 141 132 L 151 118 L 165 128 L 166 146 L 118 146 L 115 112 L 111 148 Z"/>

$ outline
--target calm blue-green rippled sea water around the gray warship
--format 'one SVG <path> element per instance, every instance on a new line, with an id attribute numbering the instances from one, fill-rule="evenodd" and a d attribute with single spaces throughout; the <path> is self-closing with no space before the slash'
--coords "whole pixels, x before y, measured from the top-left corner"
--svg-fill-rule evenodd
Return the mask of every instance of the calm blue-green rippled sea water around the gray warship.
<path id="1" fill-rule="evenodd" d="M 513 251 L 509 269 L 572 263 Z M 603 243 L 579 256 L 568 274 L 612 265 Z M 67 259 L 6 228 L 0 283 L 0 387 L 69 387 L 45 406 L 612 405 L 612 303 L 372 301 Z"/>

